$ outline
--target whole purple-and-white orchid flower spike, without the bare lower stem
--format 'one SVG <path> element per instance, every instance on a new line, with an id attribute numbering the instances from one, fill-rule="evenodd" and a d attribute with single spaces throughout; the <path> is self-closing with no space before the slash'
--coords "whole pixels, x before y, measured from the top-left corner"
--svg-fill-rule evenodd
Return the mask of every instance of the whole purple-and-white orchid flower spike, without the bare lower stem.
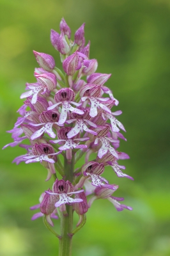
<path id="1" fill-rule="evenodd" d="M 60 53 L 63 71 L 56 67 L 52 56 L 33 51 L 40 65 L 35 68 L 36 82 L 26 83 L 26 92 L 20 96 L 26 99 L 18 110 L 20 116 L 8 131 L 13 142 L 4 146 L 19 145 L 26 150 L 26 154 L 13 162 L 40 162 L 47 169 L 46 180 L 54 177 L 52 189 L 42 194 L 40 204 L 31 207 L 40 209 L 33 220 L 45 214 L 50 225 L 53 225 L 50 218 L 58 218 L 57 209 L 66 212 L 66 204 L 73 205 L 80 220 L 99 198 L 108 199 L 118 211 L 132 210 L 120 204 L 123 198 L 112 196 L 118 185 L 109 184 L 104 178 L 105 169 L 111 166 L 113 175 L 133 179 L 123 173 L 125 166 L 118 164 L 119 159 L 129 157 L 118 151 L 120 139 L 126 140 L 120 133 L 125 127 L 116 118 L 121 111 L 111 110 L 119 102 L 104 85 L 111 74 L 96 73 L 98 63 L 89 59 L 90 43 L 85 46 L 84 25 L 75 32 L 74 41 L 64 19 L 59 26 L 60 33 L 51 30 L 50 40 Z M 26 139 L 29 145 L 23 144 Z M 84 164 L 72 170 L 69 180 L 63 158 L 72 164 L 79 163 L 82 156 L 85 156 Z M 61 180 L 57 178 L 58 173 Z"/>

